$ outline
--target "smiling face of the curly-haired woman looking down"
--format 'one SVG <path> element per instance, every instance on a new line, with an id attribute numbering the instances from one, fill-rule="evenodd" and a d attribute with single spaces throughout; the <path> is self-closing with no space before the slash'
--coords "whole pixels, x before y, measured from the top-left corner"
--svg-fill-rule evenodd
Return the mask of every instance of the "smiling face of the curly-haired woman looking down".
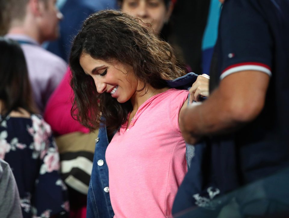
<path id="1" fill-rule="evenodd" d="M 98 93 L 108 92 L 120 103 L 132 98 L 141 85 L 132 67 L 117 61 L 107 62 L 82 53 L 79 63 L 85 74 L 93 78 Z"/>

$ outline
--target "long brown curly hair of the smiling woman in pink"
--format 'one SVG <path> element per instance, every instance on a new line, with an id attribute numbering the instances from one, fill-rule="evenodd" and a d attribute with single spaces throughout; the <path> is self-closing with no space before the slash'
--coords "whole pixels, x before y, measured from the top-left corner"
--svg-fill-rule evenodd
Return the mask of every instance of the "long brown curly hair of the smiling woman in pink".
<path id="1" fill-rule="evenodd" d="M 73 40 L 70 53 L 71 87 L 74 92 L 71 115 L 94 130 L 101 123 L 109 133 L 126 122 L 132 111 L 130 101 L 119 103 L 110 93 L 98 93 L 91 76 L 79 64 L 82 54 L 110 62 L 130 65 L 134 76 L 155 89 L 166 87 L 165 80 L 183 76 L 172 47 L 157 38 L 141 20 L 115 10 L 90 15 Z M 137 90 L 137 91 L 141 91 Z M 102 118 L 101 118 L 102 117 Z"/>

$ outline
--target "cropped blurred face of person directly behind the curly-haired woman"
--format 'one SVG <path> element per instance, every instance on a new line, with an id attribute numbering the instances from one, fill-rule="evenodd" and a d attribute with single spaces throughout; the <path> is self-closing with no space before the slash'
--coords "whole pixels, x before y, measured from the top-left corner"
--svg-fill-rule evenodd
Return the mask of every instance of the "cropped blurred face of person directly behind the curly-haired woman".
<path id="1" fill-rule="evenodd" d="M 172 0 L 118 0 L 120 9 L 145 23 L 151 23 L 154 34 L 159 35 L 168 23 L 173 10 Z"/>

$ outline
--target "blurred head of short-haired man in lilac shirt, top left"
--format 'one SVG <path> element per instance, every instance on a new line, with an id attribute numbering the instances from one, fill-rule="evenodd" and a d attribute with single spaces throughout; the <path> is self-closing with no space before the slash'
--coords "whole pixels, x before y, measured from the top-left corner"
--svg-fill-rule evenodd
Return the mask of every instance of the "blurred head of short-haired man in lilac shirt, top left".
<path id="1" fill-rule="evenodd" d="M 57 39 L 62 14 L 56 0 L 2 0 L 6 3 L 8 33 L 25 34 L 37 42 Z"/>

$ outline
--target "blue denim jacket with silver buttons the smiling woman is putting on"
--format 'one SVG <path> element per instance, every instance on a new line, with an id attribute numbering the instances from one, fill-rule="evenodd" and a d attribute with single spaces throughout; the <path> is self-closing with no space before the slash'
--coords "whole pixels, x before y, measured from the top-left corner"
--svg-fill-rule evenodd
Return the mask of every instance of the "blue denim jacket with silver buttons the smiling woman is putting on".
<path id="1" fill-rule="evenodd" d="M 197 74 L 188 73 L 174 80 L 167 80 L 167 85 L 176 89 L 189 89 L 196 81 Z M 105 161 L 105 151 L 109 144 L 106 128 L 100 128 L 95 139 L 93 167 L 87 195 L 87 218 L 111 218 L 114 216 L 110 203 L 108 186 L 108 167 Z M 194 147 L 186 144 L 186 159 L 194 156 Z M 189 168 L 189 165 L 188 165 Z"/>

